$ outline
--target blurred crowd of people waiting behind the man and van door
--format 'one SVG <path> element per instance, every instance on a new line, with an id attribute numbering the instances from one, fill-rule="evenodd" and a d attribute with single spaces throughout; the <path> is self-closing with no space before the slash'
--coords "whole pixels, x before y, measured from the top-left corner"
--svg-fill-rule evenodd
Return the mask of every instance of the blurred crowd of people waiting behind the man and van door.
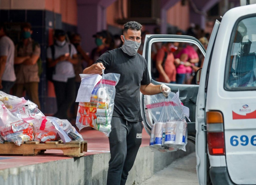
<path id="1" fill-rule="evenodd" d="M 39 43 L 31 38 L 32 34 L 30 23 L 24 23 L 21 26 L 21 40 L 14 44 L 7 36 L 5 26 L 0 25 L 0 90 L 18 97 L 23 97 L 26 93 L 28 99 L 40 109 L 38 84 L 42 73 L 42 51 Z M 151 33 L 144 30 L 141 34 L 139 54 L 143 52 L 147 34 Z M 156 27 L 153 34 L 160 34 L 160 28 Z M 196 37 L 205 49 L 210 36 L 194 25 L 185 32 L 178 30 L 176 34 Z M 54 31 L 54 44 L 46 51 L 46 77 L 53 82 L 55 88 L 55 117 L 70 120 L 76 116 L 78 103 L 75 103 L 75 97 L 81 82 L 79 74 L 105 51 L 122 46 L 120 35 L 112 35 L 106 30 L 92 36 L 96 46 L 87 53 L 81 48 L 80 34 Z M 182 42 L 155 42 L 151 48 L 152 78 L 165 83 L 193 84 L 194 74 L 202 67 L 203 59 L 201 52 L 193 45 Z"/>

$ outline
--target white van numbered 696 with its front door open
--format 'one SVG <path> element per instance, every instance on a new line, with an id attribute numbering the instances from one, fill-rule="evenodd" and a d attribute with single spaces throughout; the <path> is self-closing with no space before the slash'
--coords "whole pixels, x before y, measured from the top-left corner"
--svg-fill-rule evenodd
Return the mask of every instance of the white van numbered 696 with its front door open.
<path id="1" fill-rule="evenodd" d="M 205 56 L 197 72 L 200 85 L 166 83 L 190 109 L 188 140 L 195 142 L 199 184 L 256 184 L 256 5 L 233 8 L 216 20 L 206 54 L 190 36 L 146 35 L 143 56 L 150 74 L 155 42 L 189 43 Z M 142 95 L 150 134 L 145 101 Z"/>

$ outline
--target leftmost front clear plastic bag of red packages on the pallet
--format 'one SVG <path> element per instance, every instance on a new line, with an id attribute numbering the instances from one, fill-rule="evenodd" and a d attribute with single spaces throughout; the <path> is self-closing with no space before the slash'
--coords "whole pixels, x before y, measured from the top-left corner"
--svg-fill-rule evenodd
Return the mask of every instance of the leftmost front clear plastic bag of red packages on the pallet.
<path id="1" fill-rule="evenodd" d="M 0 101 L 0 134 L 5 141 L 14 142 L 20 146 L 34 138 L 32 124 L 17 118 Z"/>

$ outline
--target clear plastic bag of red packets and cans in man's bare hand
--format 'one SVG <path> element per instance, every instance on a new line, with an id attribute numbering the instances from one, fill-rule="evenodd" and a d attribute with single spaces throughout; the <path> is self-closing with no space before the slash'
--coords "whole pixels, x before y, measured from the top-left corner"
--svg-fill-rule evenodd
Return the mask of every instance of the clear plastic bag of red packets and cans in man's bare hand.
<path id="1" fill-rule="evenodd" d="M 86 78 L 86 75 L 80 74 L 80 76 Z M 114 109 L 115 85 L 119 78 L 120 74 L 104 74 L 103 70 L 102 79 L 95 85 L 90 102 L 79 102 L 75 123 L 79 130 L 90 126 L 109 136 Z"/>

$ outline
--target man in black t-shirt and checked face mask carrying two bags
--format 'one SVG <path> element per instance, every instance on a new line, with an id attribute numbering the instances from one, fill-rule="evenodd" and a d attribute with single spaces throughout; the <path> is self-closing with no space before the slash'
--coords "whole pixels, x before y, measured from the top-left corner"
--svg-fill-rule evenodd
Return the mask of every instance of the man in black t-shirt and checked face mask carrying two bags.
<path id="1" fill-rule="evenodd" d="M 141 45 L 142 25 L 130 21 L 124 25 L 121 48 L 106 51 L 84 74 L 118 73 L 120 79 L 115 86 L 115 99 L 111 132 L 107 185 L 125 185 L 128 173 L 133 167 L 142 141 L 140 92 L 147 95 L 163 93 L 170 88 L 165 84 L 153 85 L 147 70 L 147 62 L 137 53 Z"/>

